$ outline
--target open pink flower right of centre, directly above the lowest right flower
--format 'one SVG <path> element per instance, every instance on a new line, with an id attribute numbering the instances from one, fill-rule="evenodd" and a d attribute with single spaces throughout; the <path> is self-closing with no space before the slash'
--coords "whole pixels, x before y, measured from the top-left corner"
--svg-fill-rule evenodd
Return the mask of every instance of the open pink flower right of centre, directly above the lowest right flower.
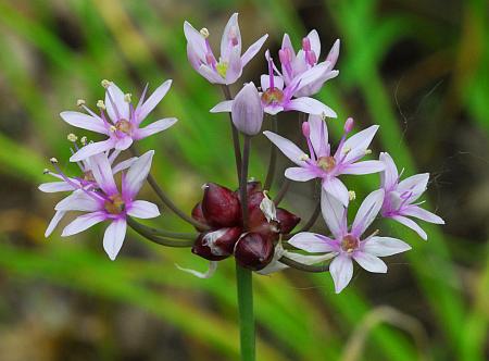
<path id="1" fill-rule="evenodd" d="M 293 142 L 278 134 L 272 132 L 263 132 L 263 134 L 298 165 L 286 170 L 287 178 L 297 182 L 321 178 L 323 189 L 340 200 L 343 206 L 348 206 L 348 189 L 338 177 L 343 174 L 377 173 L 385 167 L 380 161 L 359 162 L 369 152 L 368 146 L 378 125 L 373 125 L 347 139 L 352 127 L 351 122 L 350 119 L 347 120 L 346 132 L 334 154 L 328 144 L 326 123 L 319 116 L 310 116 L 302 126 L 310 154 L 304 153 Z"/>

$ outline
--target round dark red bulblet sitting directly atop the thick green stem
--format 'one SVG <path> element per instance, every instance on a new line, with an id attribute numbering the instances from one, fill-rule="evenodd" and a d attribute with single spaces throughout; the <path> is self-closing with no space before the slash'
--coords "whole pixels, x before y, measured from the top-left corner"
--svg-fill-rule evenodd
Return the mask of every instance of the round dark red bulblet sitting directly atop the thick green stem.
<path id="1" fill-rule="evenodd" d="M 247 269 L 259 271 L 264 269 L 274 257 L 274 244 L 269 237 L 258 233 L 248 233 L 236 242 L 235 258 Z"/>

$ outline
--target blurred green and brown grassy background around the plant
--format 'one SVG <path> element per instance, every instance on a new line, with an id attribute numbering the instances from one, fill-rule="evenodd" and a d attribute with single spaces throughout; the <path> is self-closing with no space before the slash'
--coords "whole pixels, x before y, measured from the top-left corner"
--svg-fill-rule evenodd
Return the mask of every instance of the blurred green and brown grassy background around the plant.
<path id="1" fill-rule="evenodd" d="M 299 46 L 316 28 L 324 58 L 340 38 L 340 76 L 318 96 L 340 115 L 330 121 L 331 132 L 338 137 L 348 115 L 361 127 L 380 124 L 375 152 L 389 151 L 405 175 L 430 172 L 429 207 L 447 221 L 443 227 L 426 225 L 428 242 L 384 224 L 386 234 L 397 234 L 413 250 L 388 259 L 387 275 L 356 272 L 339 296 L 328 274 L 255 276 L 258 359 L 487 360 L 489 9 L 484 0 L 1 0 L 0 359 L 238 359 L 230 260 L 201 281 L 174 263 L 203 270 L 205 262 L 133 232 L 115 262 L 102 250 L 102 227 L 72 239 L 58 232 L 47 240 L 43 232 L 60 197 L 37 190 L 48 180 L 42 170 L 50 157 L 66 172 L 76 171 L 67 163 L 66 134 L 78 129 L 58 114 L 74 110 L 78 98 L 95 104 L 103 95 L 102 78 L 135 96 L 146 82 L 154 89 L 174 79 L 152 119 L 179 122 L 140 148 L 156 150 L 155 175 L 183 208 L 191 209 L 206 180 L 233 187 L 226 116 L 208 112 L 222 99 L 221 89 L 188 64 L 183 22 L 208 27 L 217 46 L 235 11 L 244 47 L 268 33 L 265 46 L 275 53 L 285 32 Z M 256 82 L 265 70 L 261 51 L 241 80 Z M 281 117 L 279 128 L 298 138 L 294 117 Z M 261 178 L 268 144 L 261 137 L 253 147 L 251 175 Z M 362 199 L 378 178 L 347 183 Z M 304 219 L 313 208 L 311 191 L 293 185 L 286 200 Z M 155 199 L 148 188 L 141 198 Z M 156 224 L 190 231 L 166 210 Z M 324 231 L 321 220 L 315 229 Z"/>

